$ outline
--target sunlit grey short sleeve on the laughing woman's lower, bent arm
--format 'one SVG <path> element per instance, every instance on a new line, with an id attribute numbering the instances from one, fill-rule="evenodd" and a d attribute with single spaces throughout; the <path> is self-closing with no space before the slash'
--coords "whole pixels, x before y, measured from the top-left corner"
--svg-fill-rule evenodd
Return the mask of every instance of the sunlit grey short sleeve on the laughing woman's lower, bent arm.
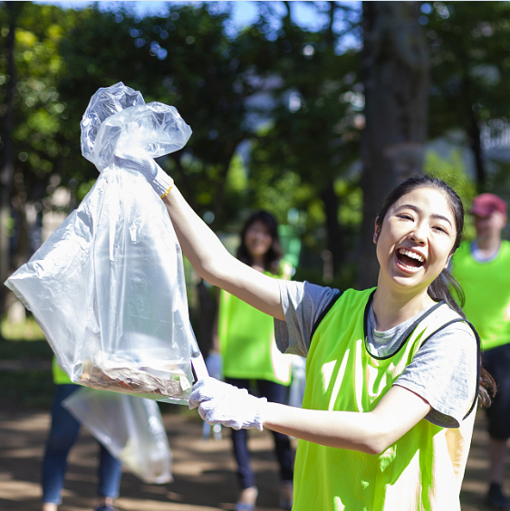
<path id="1" fill-rule="evenodd" d="M 443 428 L 458 428 L 476 396 L 476 338 L 464 322 L 452 323 L 419 348 L 396 385 L 428 401 L 425 419 Z"/>

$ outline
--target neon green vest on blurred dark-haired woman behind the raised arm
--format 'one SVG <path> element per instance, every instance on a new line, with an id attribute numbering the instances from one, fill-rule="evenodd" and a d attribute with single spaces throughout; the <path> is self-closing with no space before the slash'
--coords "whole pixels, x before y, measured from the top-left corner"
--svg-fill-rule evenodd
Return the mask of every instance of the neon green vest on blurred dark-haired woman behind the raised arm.
<path id="1" fill-rule="evenodd" d="M 288 263 L 280 267 L 280 275 L 265 275 L 282 278 L 290 273 Z M 218 341 L 226 378 L 290 385 L 292 357 L 276 347 L 273 317 L 223 290 L 219 295 Z"/>

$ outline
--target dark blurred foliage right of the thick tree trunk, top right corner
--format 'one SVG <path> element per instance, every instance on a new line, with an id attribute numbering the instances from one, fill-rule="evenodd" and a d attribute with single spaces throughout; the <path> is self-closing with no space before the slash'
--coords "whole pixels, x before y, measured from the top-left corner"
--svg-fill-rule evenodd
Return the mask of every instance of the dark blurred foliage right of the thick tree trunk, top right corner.
<path id="1" fill-rule="evenodd" d="M 423 9 L 423 8 L 422 8 Z M 469 132 L 473 121 L 508 118 L 510 5 L 435 2 L 424 26 L 430 45 L 430 134 Z"/>

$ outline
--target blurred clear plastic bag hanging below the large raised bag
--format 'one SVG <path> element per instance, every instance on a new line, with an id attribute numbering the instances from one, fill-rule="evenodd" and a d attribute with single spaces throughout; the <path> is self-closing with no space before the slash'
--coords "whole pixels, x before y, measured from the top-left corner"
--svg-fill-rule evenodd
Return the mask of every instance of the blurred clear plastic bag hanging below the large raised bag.
<path id="1" fill-rule="evenodd" d="M 172 453 L 155 401 L 83 388 L 63 406 L 142 481 L 172 481 Z"/>

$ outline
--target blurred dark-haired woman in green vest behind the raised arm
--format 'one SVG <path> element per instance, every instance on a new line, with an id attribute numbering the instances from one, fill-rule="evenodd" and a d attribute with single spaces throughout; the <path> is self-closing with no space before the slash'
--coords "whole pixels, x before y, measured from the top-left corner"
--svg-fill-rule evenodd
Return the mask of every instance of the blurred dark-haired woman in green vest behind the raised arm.
<path id="1" fill-rule="evenodd" d="M 293 268 L 282 258 L 278 223 L 273 215 L 267 211 L 255 212 L 246 220 L 240 237 L 237 259 L 265 275 L 284 279 L 291 277 Z M 225 381 L 267 400 L 287 402 L 293 357 L 278 351 L 271 316 L 220 290 L 214 344 L 221 357 Z M 231 431 L 241 487 L 236 511 L 252 511 L 258 490 L 250 464 L 247 431 Z M 280 506 L 291 509 L 293 449 L 286 435 L 272 433 L 282 481 Z"/>

